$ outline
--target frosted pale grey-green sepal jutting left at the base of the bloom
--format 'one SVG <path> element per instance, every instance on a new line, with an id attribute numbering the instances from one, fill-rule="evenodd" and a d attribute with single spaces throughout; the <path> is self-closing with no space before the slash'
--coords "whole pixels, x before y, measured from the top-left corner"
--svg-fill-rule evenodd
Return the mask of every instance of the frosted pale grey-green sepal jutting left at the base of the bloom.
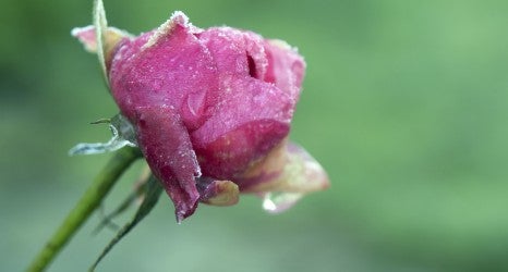
<path id="1" fill-rule="evenodd" d="M 124 146 L 137 146 L 134 138 L 134 128 L 122 115 L 118 114 L 114 116 L 109 124 L 109 128 L 113 136 L 108 143 L 77 144 L 69 150 L 69 154 L 105 153 L 116 151 Z"/>

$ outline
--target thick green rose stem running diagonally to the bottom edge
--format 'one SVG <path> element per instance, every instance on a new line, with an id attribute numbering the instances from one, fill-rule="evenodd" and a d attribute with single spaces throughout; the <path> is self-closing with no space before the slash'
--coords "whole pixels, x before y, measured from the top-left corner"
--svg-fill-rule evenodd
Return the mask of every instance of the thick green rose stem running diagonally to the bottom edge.
<path id="1" fill-rule="evenodd" d="M 26 271 L 44 271 L 48 267 L 80 226 L 100 205 L 120 175 L 138 157 L 141 157 L 138 149 L 125 147 L 111 158 Z"/>

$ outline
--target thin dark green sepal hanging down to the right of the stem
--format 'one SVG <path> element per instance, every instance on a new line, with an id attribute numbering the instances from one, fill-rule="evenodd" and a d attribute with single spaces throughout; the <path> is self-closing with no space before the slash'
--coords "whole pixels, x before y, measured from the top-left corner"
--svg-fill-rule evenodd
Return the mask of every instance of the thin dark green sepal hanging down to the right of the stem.
<path id="1" fill-rule="evenodd" d="M 106 248 L 102 250 L 100 256 L 97 258 L 97 260 L 94 262 L 94 264 L 90 267 L 89 271 L 94 271 L 97 264 L 102 260 L 104 257 L 113 248 L 114 245 L 117 245 L 120 239 L 123 238 L 134 226 L 136 226 L 137 223 L 140 223 L 155 207 L 157 203 L 157 200 L 160 197 L 160 193 L 162 193 L 162 186 L 160 183 L 155 178 L 154 175 L 150 176 L 147 183 L 147 191 L 145 199 L 141 203 L 140 208 L 136 211 L 136 214 L 134 214 L 134 218 L 132 219 L 131 222 L 128 222 L 122 230 L 120 230 L 117 233 L 117 236 L 114 236 L 111 242 L 106 246 Z"/>

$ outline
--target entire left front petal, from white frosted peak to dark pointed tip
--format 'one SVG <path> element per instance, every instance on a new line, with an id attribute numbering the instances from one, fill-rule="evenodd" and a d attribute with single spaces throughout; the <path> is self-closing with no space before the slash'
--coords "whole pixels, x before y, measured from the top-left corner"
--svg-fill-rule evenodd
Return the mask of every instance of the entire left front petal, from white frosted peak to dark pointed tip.
<path id="1" fill-rule="evenodd" d="M 211 55 L 182 13 L 158 30 L 123 39 L 109 77 L 114 100 L 136 127 L 137 143 L 171 197 L 180 222 L 197 207 L 199 165 L 189 133 L 218 91 Z"/>

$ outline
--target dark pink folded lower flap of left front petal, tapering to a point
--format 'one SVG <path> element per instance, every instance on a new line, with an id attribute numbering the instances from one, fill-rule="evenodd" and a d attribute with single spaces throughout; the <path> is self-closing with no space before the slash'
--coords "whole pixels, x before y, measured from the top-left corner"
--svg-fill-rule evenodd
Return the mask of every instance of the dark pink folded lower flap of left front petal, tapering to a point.
<path id="1" fill-rule="evenodd" d="M 194 213 L 201 176 L 189 133 L 171 107 L 137 107 L 137 143 L 155 176 L 174 203 L 177 221 Z"/>

